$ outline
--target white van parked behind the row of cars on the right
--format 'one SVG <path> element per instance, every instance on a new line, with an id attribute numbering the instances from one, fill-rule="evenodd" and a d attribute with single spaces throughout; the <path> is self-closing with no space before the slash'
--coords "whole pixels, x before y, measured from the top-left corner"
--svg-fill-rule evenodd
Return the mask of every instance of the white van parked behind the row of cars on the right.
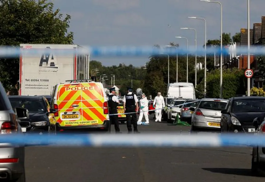
<path id="1" fill-rule="evenodd" d="M 169 83 L 167 96 L 183 99 L 196 99 L 193 83 Z"/>

